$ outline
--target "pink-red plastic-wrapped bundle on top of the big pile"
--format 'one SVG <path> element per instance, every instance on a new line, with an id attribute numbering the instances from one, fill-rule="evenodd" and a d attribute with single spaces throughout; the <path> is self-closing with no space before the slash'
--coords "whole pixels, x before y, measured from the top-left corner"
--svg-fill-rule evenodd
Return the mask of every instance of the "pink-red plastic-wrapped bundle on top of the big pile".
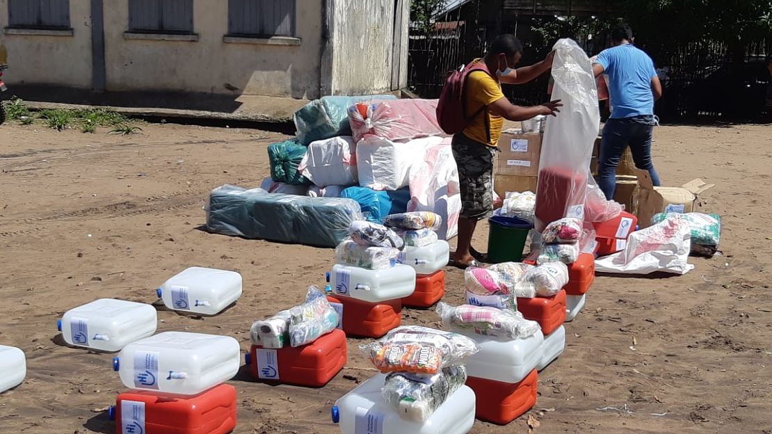
<path id="1" fill-rule="evenodd" d="M 385 100 L 348 107 L 354 139 L 373 135 L 394 141 L 446 136 L 437 124 L 437 100 Z"/>

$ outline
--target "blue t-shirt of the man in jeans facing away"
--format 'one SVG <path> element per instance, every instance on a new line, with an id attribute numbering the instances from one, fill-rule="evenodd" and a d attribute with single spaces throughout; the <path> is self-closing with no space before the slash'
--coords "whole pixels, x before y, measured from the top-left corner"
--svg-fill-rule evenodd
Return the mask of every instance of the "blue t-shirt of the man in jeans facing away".
<path id="1" fill-rule="evenodd" d="M 612 119 L 654 114 L 652 78 L 657 73 L 648 54 L 625 44 L 604 49 L 595 63 L 608 76 Z"/>

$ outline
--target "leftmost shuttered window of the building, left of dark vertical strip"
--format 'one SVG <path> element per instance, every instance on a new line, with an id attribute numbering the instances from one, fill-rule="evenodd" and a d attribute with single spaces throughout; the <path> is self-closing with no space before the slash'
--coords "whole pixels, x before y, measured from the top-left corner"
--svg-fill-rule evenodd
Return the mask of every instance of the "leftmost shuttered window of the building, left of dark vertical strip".
<path id="1" fill-rule="evenodd" d="M 69 29 L 69 0 L 8 0 L 8 27 Z"/>

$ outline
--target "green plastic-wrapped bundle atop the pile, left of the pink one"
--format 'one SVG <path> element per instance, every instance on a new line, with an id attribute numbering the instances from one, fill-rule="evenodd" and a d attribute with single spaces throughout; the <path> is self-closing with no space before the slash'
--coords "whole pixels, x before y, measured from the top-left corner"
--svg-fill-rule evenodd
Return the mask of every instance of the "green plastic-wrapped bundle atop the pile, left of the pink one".
<path id="1" fill-rule="evenodd" d="M 365 95 L 361 97 L 321 97 L 307 103 L 295 112 L 297 138 L 301 144 L 335 136 L 350 136 L 348 107 L 371 100 L 396 100 L 394 95 Z"/>

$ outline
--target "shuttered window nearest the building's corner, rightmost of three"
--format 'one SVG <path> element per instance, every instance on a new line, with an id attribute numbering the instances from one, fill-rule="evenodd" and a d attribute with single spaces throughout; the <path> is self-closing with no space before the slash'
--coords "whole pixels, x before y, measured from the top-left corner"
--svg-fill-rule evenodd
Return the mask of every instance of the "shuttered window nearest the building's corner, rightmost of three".
<path id="1" fill-rule="evenodd" d="M 295 36 L 295 0 L 228 0 L 232 36 Z"/>

